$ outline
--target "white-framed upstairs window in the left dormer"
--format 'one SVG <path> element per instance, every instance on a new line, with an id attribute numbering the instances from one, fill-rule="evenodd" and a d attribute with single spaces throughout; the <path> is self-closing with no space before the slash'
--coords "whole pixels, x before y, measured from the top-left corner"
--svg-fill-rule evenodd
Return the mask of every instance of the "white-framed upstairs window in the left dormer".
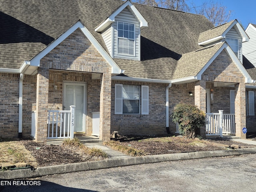
<path id="1" fill-rule="evenodd" d="M 135 26 L 131 23 L 118 22 L 118 54 L 134 56 Z"/>

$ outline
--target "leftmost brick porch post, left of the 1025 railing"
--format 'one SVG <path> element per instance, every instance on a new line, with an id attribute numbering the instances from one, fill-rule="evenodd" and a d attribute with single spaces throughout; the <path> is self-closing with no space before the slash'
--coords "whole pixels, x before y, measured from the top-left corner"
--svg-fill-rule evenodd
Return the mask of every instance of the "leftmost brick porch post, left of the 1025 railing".
<path id="1" fill-rule="evenodd" d="M 36 132 L 35 141 L 46 144 L 48 116 L 49 70 L 38 68 L 36 81 Z"/>

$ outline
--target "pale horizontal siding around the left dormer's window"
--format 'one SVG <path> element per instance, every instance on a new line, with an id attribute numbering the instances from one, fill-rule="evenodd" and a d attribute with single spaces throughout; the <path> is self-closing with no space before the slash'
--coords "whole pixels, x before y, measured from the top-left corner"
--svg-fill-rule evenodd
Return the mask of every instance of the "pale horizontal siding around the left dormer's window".
<path id="1" fill-rule="evenodd" d="M 118 51 L 117 51 L 117 39 L 118 39 L 117 23 L 118 22 L 127 22 L 135 25 L 134 56 L 118 54 Z M 116 16 L 115 22 L 112 24 L 112 27 L 114 28 L 114 48 L 113 48 L 114 57 L 139 60 L 140 58 L 140 43 L 139 43 L 140 26 L 139 26 L 139 22 L 134 17 L 134 15 L 128 10 L 128 8 L 125 8 L 124 10 L 122 10 L 122 12 L 120 12 L 120 14 Z"/>

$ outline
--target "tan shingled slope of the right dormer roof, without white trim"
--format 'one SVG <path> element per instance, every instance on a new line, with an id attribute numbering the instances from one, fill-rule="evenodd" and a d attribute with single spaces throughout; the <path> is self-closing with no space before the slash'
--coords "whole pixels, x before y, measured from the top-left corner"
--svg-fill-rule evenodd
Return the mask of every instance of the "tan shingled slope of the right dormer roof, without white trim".
<path id="1" fill-rule="evenodd" d="M 233 22 L 234 20 L 200 33 L 198 42 L 204 42 L 206 40 L 221 36 Z"/>

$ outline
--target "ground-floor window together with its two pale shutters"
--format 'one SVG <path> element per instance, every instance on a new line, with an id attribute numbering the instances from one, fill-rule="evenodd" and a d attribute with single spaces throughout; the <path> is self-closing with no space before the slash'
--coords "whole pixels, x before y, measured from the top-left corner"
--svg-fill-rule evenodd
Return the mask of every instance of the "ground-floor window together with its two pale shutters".
<path id="1" fill-rule="evenodd" d="M 148 86 L 115 85 L 115 114 L 148 114 Z"/>

